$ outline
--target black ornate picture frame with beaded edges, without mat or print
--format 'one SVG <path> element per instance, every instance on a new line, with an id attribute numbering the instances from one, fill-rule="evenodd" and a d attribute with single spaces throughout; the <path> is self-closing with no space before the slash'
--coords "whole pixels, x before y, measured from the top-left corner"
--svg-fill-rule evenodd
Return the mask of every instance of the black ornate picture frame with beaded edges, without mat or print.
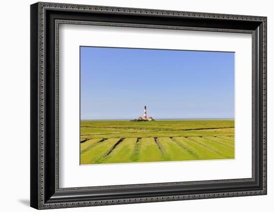
<path id="1" fill-rule="evenodd" d="M 30 206 L 35 209 L 267 194 L 267 18 L 38 2 L 30 6 Z M 98 24 L 253 36 L 253 177 L 59 188 L 58 24 Z"/>

